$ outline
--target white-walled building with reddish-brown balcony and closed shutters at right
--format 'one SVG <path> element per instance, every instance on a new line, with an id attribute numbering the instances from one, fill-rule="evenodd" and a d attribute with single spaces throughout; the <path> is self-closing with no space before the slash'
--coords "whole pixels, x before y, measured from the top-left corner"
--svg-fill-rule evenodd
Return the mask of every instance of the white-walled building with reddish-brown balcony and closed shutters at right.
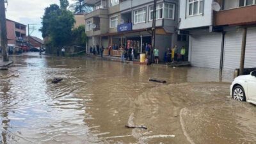
<path id="1" fill-rule="evenodd" d="M 239 68 L 247 28 L 244 67 L 256 67 L 255 4 L 255 0 L 180 1 L 179 33 L 189 34 L 191 65 Z"/>

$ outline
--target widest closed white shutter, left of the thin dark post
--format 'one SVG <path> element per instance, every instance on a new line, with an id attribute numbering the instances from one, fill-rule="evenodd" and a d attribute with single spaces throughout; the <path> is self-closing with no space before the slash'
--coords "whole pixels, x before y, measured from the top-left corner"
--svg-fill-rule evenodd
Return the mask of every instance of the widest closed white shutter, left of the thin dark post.
<path id="1" fill-rule="evenodd" d="M 221 34 L 192 35 L 190 38 L 191 65 L 220 68 Z"/>

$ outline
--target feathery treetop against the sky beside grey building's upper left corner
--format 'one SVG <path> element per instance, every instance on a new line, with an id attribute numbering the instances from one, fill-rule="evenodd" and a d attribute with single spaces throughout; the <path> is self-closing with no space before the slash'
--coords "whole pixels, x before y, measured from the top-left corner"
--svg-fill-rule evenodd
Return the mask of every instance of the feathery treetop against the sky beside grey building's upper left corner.
<path id="1" fill-rule="evenodd" d="M 70 4 L 69 8 L 76 14 L 91 12 L 93 10 L 92 4 L 86 4 L 84 0 L 73 0 L 74 4 Z"/>

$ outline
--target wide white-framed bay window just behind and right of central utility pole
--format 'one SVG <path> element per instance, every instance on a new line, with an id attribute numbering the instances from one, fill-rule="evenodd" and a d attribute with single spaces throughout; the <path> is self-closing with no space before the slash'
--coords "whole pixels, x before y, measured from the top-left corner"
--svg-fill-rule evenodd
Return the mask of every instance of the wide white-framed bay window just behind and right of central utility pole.
<path id="1" fill-rule="evenodd" d="M 150 6 L 150 20 L 153 20 L 154 6 Z M 174 19 L 175 5 L 168 3 L 157 4 L 156 19 Z"/>

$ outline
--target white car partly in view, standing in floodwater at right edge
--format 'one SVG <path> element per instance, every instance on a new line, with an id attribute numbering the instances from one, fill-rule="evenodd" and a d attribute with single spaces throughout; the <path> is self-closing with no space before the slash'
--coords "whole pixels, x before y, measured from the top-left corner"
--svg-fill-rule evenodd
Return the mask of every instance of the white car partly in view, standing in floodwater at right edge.
<path id="1" fill-rule="evenodd" d="M 236 77 L 230 86 L 230 95 L 233 99 L 256 104 L 256 71 Z"/>

